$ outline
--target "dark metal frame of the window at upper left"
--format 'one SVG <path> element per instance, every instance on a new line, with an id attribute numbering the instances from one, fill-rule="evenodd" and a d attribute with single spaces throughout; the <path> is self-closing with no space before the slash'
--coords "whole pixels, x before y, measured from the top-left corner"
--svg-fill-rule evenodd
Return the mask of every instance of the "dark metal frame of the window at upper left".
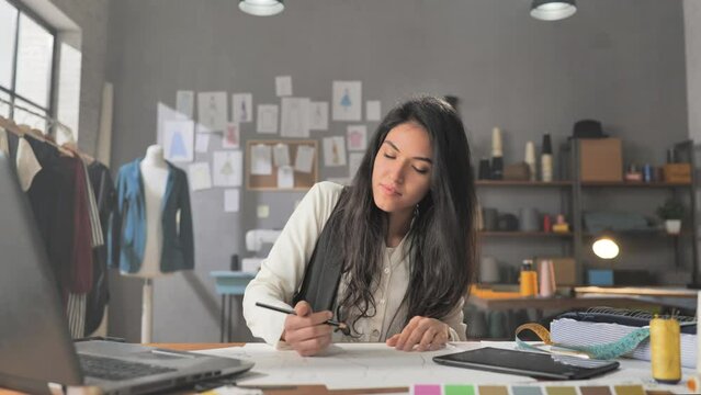
<path id="1" fill-rule="evenodd" d="M 56 111 L 56 78 L 58 77 L 58 52 L 59 52 L 59 40 L 58 40 L 58 31 L 56 29 L 54 29 L 50 24 L 48 24 L 48 22 L 46 22 L 44 19 L 42 19 L 38 14 L 36 14 L 36 12 L 32 11 L 29 7 L 26 7 L 24 3 L 20 2 L 19 0 L 5 0 L 8 3 L 10 3 L 10 5 L 18 9 L 18 15 L 16 15 L 16 21 L 15 21 L 15 26 L 14 26 L 14 52 L 11 54 L 12 55 L 12 77 L 10 80 L 11 87 L 5 88 L 0 86 L 0 91 L 3 93 L 7 93 L 10 95 L 10 113 L 9 116 L 11 120 L 14 119 L 15 115 L 15 105 L 16 104 L 16 100 L 21 100 L 23 102 L 26 102 L 29 104 L 31 104 L 34 108 L 41 109 L 42 111 L 46 112 L 46 116 L 54 119 L 55 117 L 55 111 Z M 52 47 L 52 69 L 50 69 L 50 80 L 48 81 L 48 98 L 47 99 L 47 103 L 48 106 L 44 106 L 44 105 L 39 105 L 36 102 L 30 100 L 29 98 L 23 97 L 22 94 L 19 94 L 16 92 L 16 77 L 18 77 L 18 60 L 19 60 L 19 44 L 20 44 L 20 18 L 22 16 L 22 14 L 24 14 L 24 16 L 31 19 L 33 22 L 35 22 L 36 24 L 38 24 L 39 26 L 42 26 L 43 29 L 45 29 L 53 37 L 54 37 L 54 45 Z M 22 105 L 20 105 L 22 106 Z M 29 110 L 29 109 L 27 109 Z M 47 122 L 47 126 L 48 127 L 53 127 L 53 125 L 50 124 L 50 122 Z M 53 131 L 46 131 L 46 133 L 53 133 Z"/>

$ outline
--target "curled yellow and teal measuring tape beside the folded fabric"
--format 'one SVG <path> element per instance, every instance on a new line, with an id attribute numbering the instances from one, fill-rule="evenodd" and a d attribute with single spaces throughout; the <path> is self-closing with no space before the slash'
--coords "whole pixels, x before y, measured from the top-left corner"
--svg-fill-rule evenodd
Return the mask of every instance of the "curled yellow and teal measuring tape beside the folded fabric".
<path id="1" fill-rule="evenodd" d="M 557 343 L 552 341 L 550 338 L 550 331 L 540 324 L 534 324 L 534 323 L 523 324 L 519 326 L 518 328 L 516 328 L 516 343 L 519 347 L 538 350 L 538 351 L 545 351 L 549 353 L 563 353 L 564 351 L 563 350 L 556 351 L 552 349 L 546 350 L 542 348 L 543 345 L 539 346 L 539 345 L 527 343 L 525 341 L 519 338 L 519 334 L 525 330 L 530 330 L 533 334 L 535 334 L 539 337 L 539 339 L 543 341 L 545 346 L 551 346 L 551 347 L 554 346 L 554 347 L 557 347 L 558 349 L 576 351 L 576 353 L 580 353 L 580 354 L 584 353 L 588 358 L 600 359 L 600 360 L 614 359 L 623 354 L 626 354 L 633 351 L 637 347 L 637 345 L 640 345 L 643 340 L 649 337 L 649 328 L 644 327 L 644 328 L 635 329 L 632 332 L 627 334 L 626 336 L 622 337 L 621 339 L 610 343 L 592 345 L 592 346 L 572 346 L 572 345 L 564 345 L 564 343 Z"/>

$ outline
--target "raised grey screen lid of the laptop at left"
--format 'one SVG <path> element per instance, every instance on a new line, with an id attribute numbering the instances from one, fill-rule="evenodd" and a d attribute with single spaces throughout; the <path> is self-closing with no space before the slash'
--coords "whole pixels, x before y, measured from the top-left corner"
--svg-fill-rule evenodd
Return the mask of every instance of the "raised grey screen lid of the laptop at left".
<path id="1" fill-rule="evenodd" d="M 0 151 L 0 387 L 36 393 L 82 377 L 33 215 Z"/>

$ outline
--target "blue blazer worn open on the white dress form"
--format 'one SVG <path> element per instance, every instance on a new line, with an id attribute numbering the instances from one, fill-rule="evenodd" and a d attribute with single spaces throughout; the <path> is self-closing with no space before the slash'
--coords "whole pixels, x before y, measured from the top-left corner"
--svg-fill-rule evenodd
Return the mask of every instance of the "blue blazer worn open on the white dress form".
<path id="1" fill-rule="evenodd" d="M 120 168 L 117 210 L 110 224 L 109 264 L 128 273 L 139 271 L 146 248 L 146 202 L 140 161 L 142 158 L 138 158 Z M 194 244 L 188 177 L 170 162 L 161 221 L 161 272 L 193 269 Z"/>

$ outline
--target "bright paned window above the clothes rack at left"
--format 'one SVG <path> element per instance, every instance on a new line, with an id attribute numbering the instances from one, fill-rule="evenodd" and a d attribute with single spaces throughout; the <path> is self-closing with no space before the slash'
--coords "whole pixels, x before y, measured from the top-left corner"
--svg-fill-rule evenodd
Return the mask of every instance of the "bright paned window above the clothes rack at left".
<path id="1" fill-rule="evenodd" d="M 31 11 L 0 0 L 0 99 L 11 103 L 0 102 L 0 115 L 46 129 L 38 115 L 53 115 L 55 41 L 56 33 Z"/>

